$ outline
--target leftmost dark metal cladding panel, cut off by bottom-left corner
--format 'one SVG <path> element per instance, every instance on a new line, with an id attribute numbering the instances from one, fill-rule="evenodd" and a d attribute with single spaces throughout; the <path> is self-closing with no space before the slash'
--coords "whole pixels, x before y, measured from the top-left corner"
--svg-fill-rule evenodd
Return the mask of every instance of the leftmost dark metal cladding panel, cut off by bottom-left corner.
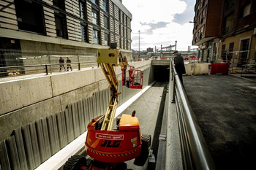
<path id="1" fill-rule="evenodd" d="M 0 142 L 0 163 L 1 169 L 11 170 L 6 141 Z"/>

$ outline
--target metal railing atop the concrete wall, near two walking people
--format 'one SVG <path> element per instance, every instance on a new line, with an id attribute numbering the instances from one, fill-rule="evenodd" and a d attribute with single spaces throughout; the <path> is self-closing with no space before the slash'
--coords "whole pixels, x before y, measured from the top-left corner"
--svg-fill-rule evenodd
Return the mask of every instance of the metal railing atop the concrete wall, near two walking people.
<path id="1" fill-rule="evenodd" d="M 59 63 L 47 63 L 47 64 L 38 64 L 38 65 L 29 65 L 29 66 L 4 66 L 0 67 L 0 78 L 1 77 L 14 77 L 20 75 L 31 75 L 31 74 L 52 74 L 53 72 L 64 72 L 67 71 L 67 64 L 70 64 L 69 71 L 74 69 L 80 70 L 89 66 L 98 66 L 96 61 L 90 62 L 78 62 L 78 63 L 64 63 L 64 68 L 60 70 Z"/>

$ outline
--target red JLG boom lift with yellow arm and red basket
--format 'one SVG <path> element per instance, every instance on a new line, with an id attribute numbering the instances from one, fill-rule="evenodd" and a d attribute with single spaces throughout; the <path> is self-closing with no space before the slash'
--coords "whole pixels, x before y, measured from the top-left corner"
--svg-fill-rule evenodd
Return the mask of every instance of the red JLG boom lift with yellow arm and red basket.
<path id="1" fill-rule="evenodd" d="M 86 158 L 73 155 L 64 165 L 66 169 L 107 170 L 127 169 L 124 161 L 135 159 L 135 164 L 143 166 L 148 158 L 151 145 L 150 135 L 141 135 L 138 118 L 135 111 L 131 115 L 121 115 L 114 127 L 116 107 L 118 104 L 118 80 L 113 66 L 121 66 L 122 85 L 128 88 L 143 87 L 143 72 L 129 66 L 129 80 L 126 79 L 127 58 L 123 58 L 117 48 L 99 49 L 98 60 L 102 72 L 110 85 L 110 103 L 105 115 L 91 120 L 86 136 L 86 152 L 94 159 L 86 164 Z"/>

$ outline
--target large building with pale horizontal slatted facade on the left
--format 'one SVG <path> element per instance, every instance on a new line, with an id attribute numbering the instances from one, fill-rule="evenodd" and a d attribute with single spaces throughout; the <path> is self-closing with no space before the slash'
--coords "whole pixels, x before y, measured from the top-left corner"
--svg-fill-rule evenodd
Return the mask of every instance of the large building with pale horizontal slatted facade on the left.
<path id="1" fill-rule="evenodd" d="M 0 66 L 96 61 L 111 42 L 132 56 L 132 14 L 121 0 L 1 0 L 0 9 Z"/>

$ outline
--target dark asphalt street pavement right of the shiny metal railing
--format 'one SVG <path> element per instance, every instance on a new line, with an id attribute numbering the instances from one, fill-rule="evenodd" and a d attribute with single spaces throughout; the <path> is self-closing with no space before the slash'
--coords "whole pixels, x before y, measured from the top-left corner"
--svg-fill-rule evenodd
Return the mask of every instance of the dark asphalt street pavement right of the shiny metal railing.
<path id="1" fill-rule="evenodd" d="M 217 169 L 256 160 L 256 82 L 233 75 L 184 76 L 184 87 Z"/>

